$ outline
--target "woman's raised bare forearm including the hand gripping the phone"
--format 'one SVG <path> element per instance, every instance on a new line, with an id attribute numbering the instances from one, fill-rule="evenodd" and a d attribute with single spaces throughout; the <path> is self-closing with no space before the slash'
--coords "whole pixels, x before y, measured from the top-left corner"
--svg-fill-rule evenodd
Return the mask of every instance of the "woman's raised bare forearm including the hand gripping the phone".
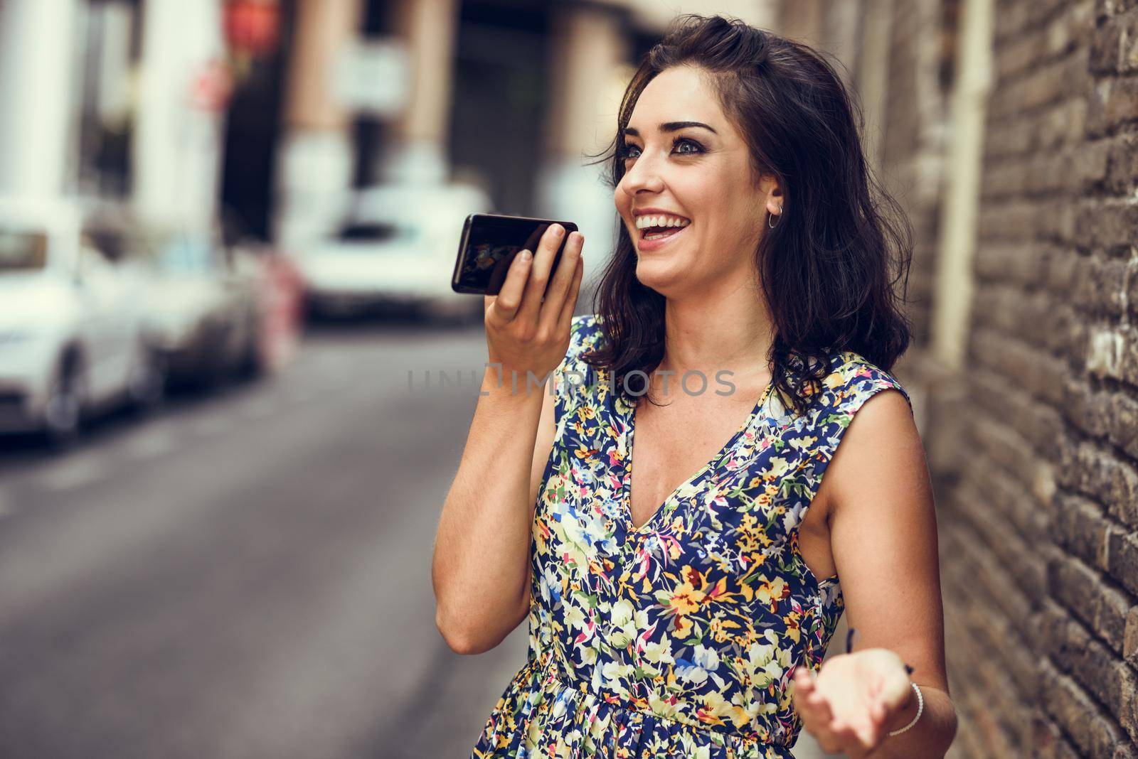
<path id="1" fill-rule="evenodd" d="M 494 648 L 528 611 L 534 503 L 554 427 L 550 387 L 527 391 L 526 376 L 544 377 L 564 358 L 583 274 L 582 239 L 570 237 L 542 301 L 558 244 L 547 244 L 547 236 L 531 276 L 518 257 L 496 301 L 487 299 L 489 360 L 501 364 L 503 381 L 493 366 L 484 374 L 484 394 L 435 537 L 435 623 L 459 653 Z"/>

